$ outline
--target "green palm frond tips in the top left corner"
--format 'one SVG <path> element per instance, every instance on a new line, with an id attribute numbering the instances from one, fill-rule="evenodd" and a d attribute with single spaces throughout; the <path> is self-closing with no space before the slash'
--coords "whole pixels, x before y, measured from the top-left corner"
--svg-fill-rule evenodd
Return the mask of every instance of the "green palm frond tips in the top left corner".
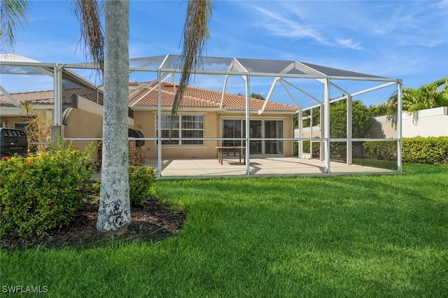
<path id="1" fill-rule="evenodd" d="M 28 21 L 28 9 L 27 0 L 1 0 L 0 52 L 14 52 L 15 27 Z"/>

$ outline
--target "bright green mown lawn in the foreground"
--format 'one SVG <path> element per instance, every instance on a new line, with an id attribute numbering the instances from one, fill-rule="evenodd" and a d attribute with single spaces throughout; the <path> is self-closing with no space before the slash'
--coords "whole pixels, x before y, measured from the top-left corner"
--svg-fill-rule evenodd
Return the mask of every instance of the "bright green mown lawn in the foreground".
<path id="1" fill-rule="evenodd" d="M 2 251 L 49 297 L 447 297 L 448 167 L 393 176 L 162 180 L 187 213 L 158 243 Z"/>

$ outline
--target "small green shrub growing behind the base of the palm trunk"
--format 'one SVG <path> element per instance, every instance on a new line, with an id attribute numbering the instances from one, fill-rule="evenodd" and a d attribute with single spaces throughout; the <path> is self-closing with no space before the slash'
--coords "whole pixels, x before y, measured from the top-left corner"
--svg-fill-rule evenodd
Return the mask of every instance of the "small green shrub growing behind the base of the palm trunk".
<path id="1" fill-rule="evenodd" d="M 152 166 L 129 166 L 129 197 L 132 206 L 144 204 L 146 198 L 153 194 L 155 171 Z M 101 180 L 94 184 L 94 190 L 99 194 Z"/>

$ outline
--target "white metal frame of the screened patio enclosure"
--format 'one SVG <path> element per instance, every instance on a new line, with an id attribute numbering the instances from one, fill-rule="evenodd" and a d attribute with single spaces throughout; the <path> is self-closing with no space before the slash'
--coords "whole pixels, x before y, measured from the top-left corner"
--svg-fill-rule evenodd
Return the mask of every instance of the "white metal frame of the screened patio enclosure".
<path id="1" fill-rule="evenodd" d="M 54 90 L 55 90 L 55 123 L 54 127 L 62 127 L 62 111 L 61 111 L 61 98 L 60 95 L 62 90 L 62 78 L 64 76 L 73 76 L 77 78 L 76 73 L 70 71 L 70 69 L 94 69 L 93 64 L 90 63 L 78 63 L 78 64 L 39 64 L 39 63 L 27 63 L 27 62 L 0 62 L 1 71 L 3 73 L 3 69 L 6 69 L 7 66 L 22 66 L 22 67 L 31 67 L 33 69 L 44 67 L 52 69 L 53 79 L 54 79 Z M 153 72 L 157 73 L 158 80 L 158 137 L 157 138 L 144 138 L 145 140 L 155 140 L 158 141 L 158 177 L 161 177 L 162 171 L 162 141 L 165 139 L 162 138 L 161 130 L 161 119 L 162 119 L 162 106 L 161 106 L 161 83 L 166 80 L 169 76 L 174 78 L 175 75 L 179 76 L 181 73 L 181 68 L 179 67 L 179 56 L 178 55 L 160 55 L 154 57 L 142 57 L 130 59 L 130 73 L 134 72 Z M 23 73 L 23 71 L 22 71 Z M 50 73 L 47 73 L 50 75 Z M 373 90 L 378 90 L 384 87 L 388 87 L 391 85 L 397 86 L 397 95 L 398 95 L 398 111 L 401 111 L 401 95 L 402 95 L 402 85 L 401 80 L 394 78 L 384 78 L 380 76 L 372 76 L 365 73 L 356 73 L 353 71 L 344 71 L 341 69 L 333 69 L 326 66 L 318 66 L 316 64 L 309 64 L 305 62 L 296 62 L 296 61 L 283 61 L 283 60 L 267 60 L 267 59 L 240 59 L 240 58 L 227 58 L 227 57 L 203 57 L 202 58 L 202 66 L 199 69 L 195 70 L 196 75 L 211 75 L 211 76 L 224 76 L 225 80 L 223 82 L 223 93 L 227 88 L 227 79 L 230 76 L 240 76 L 245 80 L 245 91 L 246 91 L 246 132 L 249 132 L 250 125 L 250 110 L 249 110 L 249 94 L 251 94 L 250 82 L 251 78 L 254 77 L 266 77 L 273 78 L 271 90 L 269 90 L 269 94 L 265 99 L 265 106 L 267 102 L 270 100 L 271 91 L 274 89 L 277 83 L 286 82 L 288 78 L 300 78 L 300 79 L 309 79 L 309 80 L 317 80 L 322 83 L 323 86 L 323 99 L 317 99 L 316 97 L 311 96 L 307 93 L 307 90 L 303 90 L 300 86 L 293 86 L 296 90 L 299 90 L 302 94 L 315 99 L 321 108 L 321 136 L 320 138 L 282 138 L 278 139 L 279 141 L 293 141 L 299 143 L 299 152 L 302 152 L 302 142 L 303 141 L 318 141 L 321 143 L 321 160 L 324 162 L 325 173 L 332 173 L 330 170 L 330 142 L 345 142 L 347 148 L 351 148 L 351 143 L 356 141 L 396 141 L 397 142 L 397 169 L 401 171 L 401 113 L 397 113 L 398 121 L 397 121 L 397 138 L 395 139 L 353 139 L 351 137 L 351 132 L 349 132 L 349 128 L 351 128 L 351 99 L 352 97 L 363 94 L 367 92 L 371 92 Z M 358 92 L 346 92 L 344 88 L 339 87 L 337 82 L 340 80 L 351 80 L 351 81 L 369 81 L 378 83 L 378 85 L 374 87 L 370 87 L 365 90 L 359 90 Z M 85 83 L 90 87 L 94 87 L 92 83 L 88 82 L 84 78 L 79 76 L 79 80 L 77 82 Z M 175 82 L 174 82 L 175 83 Z M 343 92 L 344 96 L 339 97 L 337 99 L 330 99 L 330 87 L 333 87 L 337 90 Z M 290 94 L 289 94 L 290 95 Z M 290 97 L 292 97 L 290 95 Z M 292 98 L 293 99 L 293 98 Z M 347 137 L 344 139 L 331 139 L 330 138 L 330 104 L 335 101 L 339 101 L 342 99 L 346 99 L 347 101 Z M 293 99 L 295 104 L 297 102 Z M 262 114 L 265 106 L 263 106 L 258 114 Z M 222 103 L 221 103 L 222 107 Z M 314 106 L 315 107 L 315 106 Z M 309 107 L 312 108 L 312 107 Z M 300 127 L 299 130 L 302 129 L 302 113 L 303 111 L 307 111 L 307 108 L 300 108 L 297 105 L 297 116 L 299 118 Z M 59 128 L 59 134 L 62 135 L 62 129 Z M 132 138 L 131 138 L 132 139 Z M 201 138 L 204 141 L 223 141 L 223 138 Z M 225 139 L 228 140 L 228 139 Z M 245 138 L 241 138 L 241 140 L 249 143 L 251 141 L 251 137 L 249 134 L 246 134 Z M 264 139 L 257 138 L 258 141 L 263 141 Z M 269 139 L 270 141 L 277 139 Z M 346 163 L 351 164 L 351 150 L 346 150 Z M 300 157 L 300 155 L 299 155 Z M 246 146 L 246 176 L 250 176 L 250 154 L 249 154 L 249 146 Z"/>

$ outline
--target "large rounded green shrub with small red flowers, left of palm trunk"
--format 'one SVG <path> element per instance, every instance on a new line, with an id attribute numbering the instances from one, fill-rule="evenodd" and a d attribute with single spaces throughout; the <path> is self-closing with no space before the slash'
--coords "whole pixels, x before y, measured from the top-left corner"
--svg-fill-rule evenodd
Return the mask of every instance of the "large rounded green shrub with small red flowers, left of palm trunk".
<path id="1" fill-rule="evenodd" d="M 0 236 L 38 236 L 68 225 L 90 199 L 91 152 L 71 146 L 0 161 Z"/>

